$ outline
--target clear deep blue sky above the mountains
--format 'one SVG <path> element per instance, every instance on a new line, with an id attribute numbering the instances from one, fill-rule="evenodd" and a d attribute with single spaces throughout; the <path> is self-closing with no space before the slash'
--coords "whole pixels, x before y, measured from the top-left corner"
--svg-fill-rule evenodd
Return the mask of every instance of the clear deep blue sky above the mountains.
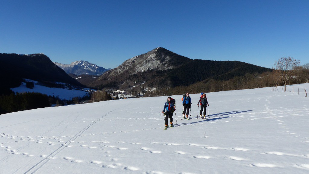
<path id="1" fill-rule="evenodd" d="M 163 47 L 190 59 L 309 63 L 308 0 L 0 1 L 0 53 L 114 68 Z"/>

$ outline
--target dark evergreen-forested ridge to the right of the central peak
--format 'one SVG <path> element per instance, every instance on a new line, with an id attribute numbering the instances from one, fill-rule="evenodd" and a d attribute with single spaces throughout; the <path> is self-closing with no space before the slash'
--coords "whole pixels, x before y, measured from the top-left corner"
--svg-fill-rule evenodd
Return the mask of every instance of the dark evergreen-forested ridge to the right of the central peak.
<path id="1" fill-rule="evenodd" d="M 171 80 L 172 87 L 176 87 L 192 85 L 202 80 L 230 80 L 246 73 L 261 74 L 266 71 L 271 69 L 239 61 L 194 59 L 169 72 L 168 79 Z"/>

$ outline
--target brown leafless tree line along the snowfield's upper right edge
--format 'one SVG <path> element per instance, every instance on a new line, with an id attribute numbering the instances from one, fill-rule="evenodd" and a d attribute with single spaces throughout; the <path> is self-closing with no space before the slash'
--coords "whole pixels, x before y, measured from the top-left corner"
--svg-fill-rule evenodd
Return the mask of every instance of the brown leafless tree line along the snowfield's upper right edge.
<path id="1" fill-rule="evenodd" d="M 281 86 L 284 79 L 280 75 L 281 70 L 273 69 L 264 73 L 245 73 L 243 76 L 234 76 L 229 80 L 209 79 L 199 81 L 193 85 L 176 86 L 174 88 L 147 90 L 145 97 L 179 95 L 187 92 L 197 94 L 201 92 L 217 92 L 239 89 L 254 89 L 272 86 Z M 190 76 L 191 77 L 191 76 Z M 297 66 L 293 69 L 293 75 L 287 78 L 286 85 L 309 83 L 309 63 L 304 66 Z M 142 88 L 140 87 L 142 91 Z"/>

